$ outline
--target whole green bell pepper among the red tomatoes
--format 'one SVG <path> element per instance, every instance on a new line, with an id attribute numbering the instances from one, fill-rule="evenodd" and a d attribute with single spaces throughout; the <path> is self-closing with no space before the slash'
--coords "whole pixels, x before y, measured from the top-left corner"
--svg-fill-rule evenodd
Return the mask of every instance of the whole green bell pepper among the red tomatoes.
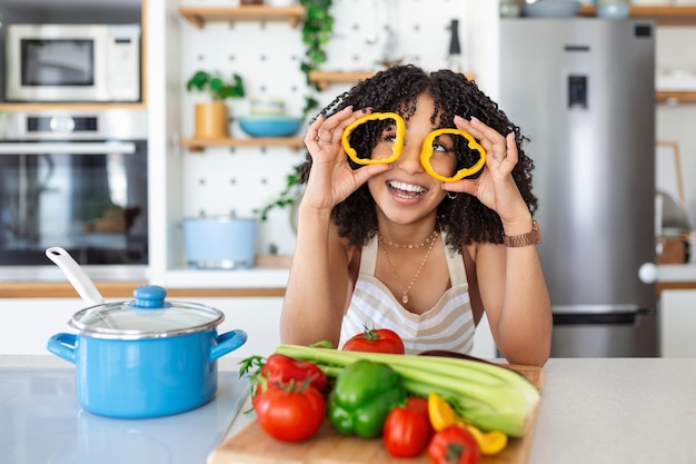
<path id="1" fill-rule="evenodd" d="M 399 375 L 389 365 L 360 359 L 346 366 L 329 394 L 329 421 L 344 435 L 375 438 L 387 415 L 406 402 Z"/>

